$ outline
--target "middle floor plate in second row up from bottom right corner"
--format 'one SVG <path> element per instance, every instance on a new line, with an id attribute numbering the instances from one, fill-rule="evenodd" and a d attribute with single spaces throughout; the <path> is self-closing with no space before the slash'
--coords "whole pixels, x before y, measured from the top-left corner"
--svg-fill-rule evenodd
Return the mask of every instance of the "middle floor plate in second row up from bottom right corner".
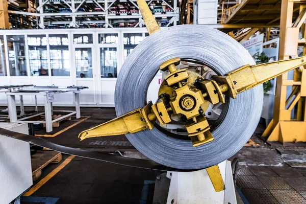
<path id="1" fill-rule="evenodd" d="M 267 189 L 293 190 L 280 176 L 258 176 L 258 179 Z"/>

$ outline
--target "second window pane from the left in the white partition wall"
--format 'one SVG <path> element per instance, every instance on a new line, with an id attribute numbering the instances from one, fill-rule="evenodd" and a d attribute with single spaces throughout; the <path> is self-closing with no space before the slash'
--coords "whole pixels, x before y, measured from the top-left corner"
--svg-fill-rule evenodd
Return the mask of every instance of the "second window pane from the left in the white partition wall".
<path id="1" fill-rule="evenodd" d="M 11 76 L 28 76 L 25 61 L 24 35 L 8 35 L 9 68 Z"/>

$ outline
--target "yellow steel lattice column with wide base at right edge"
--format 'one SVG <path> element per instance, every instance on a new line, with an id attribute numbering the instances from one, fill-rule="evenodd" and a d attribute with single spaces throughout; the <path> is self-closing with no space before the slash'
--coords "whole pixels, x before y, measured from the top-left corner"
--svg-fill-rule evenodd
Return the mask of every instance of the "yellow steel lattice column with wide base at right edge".
<path id="1" fill-rule="evenodd" d="M 299 16 L 293 22 L 294 2 L 299 4 Z M 298 45 L 303 46 L 306 54 L 305 27 L 306 5 L 301 1 L 283 0 L 281 11 L 281 40 L 279 44 L 279 59 L 297 57 Z M 299 31 L 303 39 L 299 40 Z M 287 88 L 292 86 L 287 98 Z M 295 110 L 294 114 L 292 111 Z M 293 117 L 292 117 L 293 116 Z M 288 79 L 288 73 L 277 77 L 276 95 L 274 101 L 273 119 L 263 133 L 268 141 L 306 142 L 306 70 L 304 66 L 294 70 L 293 80 Z"/>

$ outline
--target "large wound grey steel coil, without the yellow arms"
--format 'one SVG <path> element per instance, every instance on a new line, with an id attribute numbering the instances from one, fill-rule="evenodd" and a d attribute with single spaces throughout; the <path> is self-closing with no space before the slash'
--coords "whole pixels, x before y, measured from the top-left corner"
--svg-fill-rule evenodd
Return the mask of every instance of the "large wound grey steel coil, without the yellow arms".
<path id="1" fill-rule="evenodd" d="M 174 57 L 202 61 L 222 75 L 254 64 L 240 43 L 216 29 L 199 25 L 162 29 L 144 39 L 124 61 L 115 90 L 117 116 L 145 105 L 146 90 L 159 65 Z M 178 169 L 207 168 L 233 156 L 251 137 L 261 117 L 263 86 L 228 103 L 222 123 L 212 132 L 215 140 L 205 145 L 193 147 L 191 141 L 174 139 L 156 127 L 126 137 L 159 164 Z"/>

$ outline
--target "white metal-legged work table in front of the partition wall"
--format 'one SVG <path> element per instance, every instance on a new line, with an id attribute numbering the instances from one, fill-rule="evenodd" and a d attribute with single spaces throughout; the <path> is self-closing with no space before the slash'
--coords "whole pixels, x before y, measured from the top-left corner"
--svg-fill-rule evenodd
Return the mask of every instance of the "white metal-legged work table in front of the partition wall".
<path id="1" fill-rule="evenodd" d="M 9 108 L 9 117 L 11 123 L 45 123 L 46 132 L 52 132 L 52 124 L 54 122 L 63 120 L 75 114 L 77 119 L 81 117 L 80 112 L 80 93 L 81 89 L 88 88 L 85 86 L 68 86 L 68 87 L 57 87 L 57 86 L 28 86 L 28 87 L 18 87 L 18 88 L 8 88 L 6 92 L 8 98 L 8 108 Z M 75 111 L 71 110 L 54 110 L 53 102 L 55 100 L 56 94 L 62 94 L 72 92 L 74 95 L 74 105 Z M 16 100 L 15 96 L 20 97 L 20 118 L 17 117 L 16 110 Z M 37 108 L 37 98 L 36 96 L 43 96 L 44 99 L 44 112 L 38 112 L 37 114 L 24 116 L 24 105 L 23 105 L 23 96 L 35 96 L 35 111 L 38 112 Z M 66 115 L 52 120 L 53 112 L 63 112 Z M 45 121 L 31 121 L 28 119 L 44 115 Z"/>

